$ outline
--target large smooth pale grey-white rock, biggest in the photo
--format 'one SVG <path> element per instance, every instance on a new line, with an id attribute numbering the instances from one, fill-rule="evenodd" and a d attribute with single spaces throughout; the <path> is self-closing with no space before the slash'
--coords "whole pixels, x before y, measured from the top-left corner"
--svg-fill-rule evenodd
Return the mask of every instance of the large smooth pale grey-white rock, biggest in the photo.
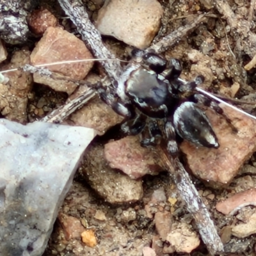
<path id="1" fill-rule="evenodd" d="M 0 255 L 42 255 L 94 131 L 0 120 Z"/>

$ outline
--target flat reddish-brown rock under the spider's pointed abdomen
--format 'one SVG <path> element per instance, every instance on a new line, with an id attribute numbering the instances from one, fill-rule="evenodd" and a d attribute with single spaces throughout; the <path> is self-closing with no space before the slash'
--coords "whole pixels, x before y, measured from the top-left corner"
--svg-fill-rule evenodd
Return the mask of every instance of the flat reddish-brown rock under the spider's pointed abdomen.
<path id="1" fill-rule="evenodd" d="M 256 149 L 256 121 L 234 109 L 220 106 L 238 132 L 233 132 L 224 118 L 209 110 L 207 116 L 220 148 L 195 147 L 188 141 L 180 146 L 193 174 L 214 188 L 227 186 Z"/>

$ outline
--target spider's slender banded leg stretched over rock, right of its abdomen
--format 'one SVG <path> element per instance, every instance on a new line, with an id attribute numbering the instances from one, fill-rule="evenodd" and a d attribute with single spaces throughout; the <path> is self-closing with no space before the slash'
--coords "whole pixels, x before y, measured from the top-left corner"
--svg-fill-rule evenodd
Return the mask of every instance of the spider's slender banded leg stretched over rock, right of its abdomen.
<path id="1" fill-rule="evenodd" d="M 193 99 L 195 100 L 196 103 L 204 104 L 204 106 L 207 106 L 207 107 L 213 109 L 216 113 L 223 116 L 225 118 L 225 120 L 227 121 L 227 123 L 232 128 L 232 131 L 237 132 L 236 127 L 234 127 L 234 125 L 232 125 L 232 121 L 228 118 L 227 115 L 225 115 L 225 113 L 223 112 L 223 109 L 220 108 L 220 106 L 217 102 L 215 102 L 212 99 L 209 99 L 208 97 L 206 97 L 205 95 L 202 95 L 200 93 L 195 93 L 193 95 Z"/>

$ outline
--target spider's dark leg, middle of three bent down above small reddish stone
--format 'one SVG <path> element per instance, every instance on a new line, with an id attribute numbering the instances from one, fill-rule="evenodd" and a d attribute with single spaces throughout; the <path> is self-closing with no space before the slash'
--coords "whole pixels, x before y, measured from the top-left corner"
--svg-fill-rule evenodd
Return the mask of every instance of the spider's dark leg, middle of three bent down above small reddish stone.
<path id="1" fill-rule="evenodd" d="M 156 146 L 162 138 L 162 132 L 156 120 L 150 120 L 143 130 L 141 147 Z"/>

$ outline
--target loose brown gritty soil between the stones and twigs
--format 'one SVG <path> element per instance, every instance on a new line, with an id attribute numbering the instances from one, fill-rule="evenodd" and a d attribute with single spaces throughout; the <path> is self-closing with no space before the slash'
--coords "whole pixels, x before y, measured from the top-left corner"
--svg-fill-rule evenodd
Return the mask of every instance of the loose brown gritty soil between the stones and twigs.
<path id="1" fill-rule="evenodd" d="M 58 3 L 43 2 L 38 1 L 38 6 L 49 8 L 58 18 L 63 15 Z M 96 19 L 97 12 L 103 2 L 84 1 L 92 20 Z M 251 7 L 250 1 L 243 0 L 226 2 L 166 0 L 159 1 L 159 3 L 164 8 L 164 15 L 161 29 L 154 38 L 153 44 L 163 36 L 191 22 L 195 19 L 196 13 L 207 13 L 205 20 L 199 26 L 196 26 L 189 35 L 184 36 L 182 40 L 164 52 L 166 58 L 178 58 L 182 62 L 182 78 L 191 80 L 196 75 L 202 74 L 205 77 L 204 88 L 208 91 L 221 97 L 253 102 L 256 97 L 256 69 L 253 64 L 252 68 L 244 68 L 244 66 L 250 63 L 256 54 L 255 1 L 252 1 L 254 8 Z M 232 13 L 227 10 L 226 4 L 230 6 Z M 70 20 L 60 20 L 66 29 L 79 36 Z M 29 38 L 30 50 L 33 49 L 38 39 L 33 38 L 31 42 L 31 38 Z M 118 58 L 127 58 L 127 45 L 108 36 L 103 37 L 103 42 L 109 46 L 111 51 L 115 52 Z M 6 45 L 6 47 L 8 52 L 12 54 L 20 46 Z M 91 72 L 99 74 L 101 71 L 99 67 L 93 67 Z M 28 121 L 33 122 L 43 118 L 52 110 L 65 104 L 67 97 L 67 93 L 55 92 L 47 86 L 33 84 L 33 89 L 28 94 Z M 255 114 L 254 106 L 248 104 L 240 104 L 239 106 Z M 113 132 L 108 132 L 106 136 L 97 137 L 88 149 L 88 159 L 84 160 L 88 161 L 86 164 L 90 165 L 92 162 L 102 161 L 100 157 L 97 160 L 97 156 L 101 154 L 100 151 L 93 152 L 93 148 L 100 148 L 106 141 L 115 139 L 114 137 Z M 182 161 L 186 165 L 185 157 Z M 95 164 L 95 166 L 99 165 Z M 236 195 L 241 191 L 255 188 L 255 166 L 255 156 L 253 155 L 250 159 L 246 159 L 234 180 L 226 188 L 221 189 L 207 187 L 192 176 L 193 183 L 211 213 L 221 241 L 225 246 L 225 253 L 222 255 L 256 255 L 256 232 L 248 232 L 248 236 L 245 237 L 234 236 L 232 233 L 232 227 L 237 223 L 248 223 L 253 216 L 256 199 L 253 198 L 252 204 L 244 205 L 241 211 L 231 215 L 222 214 L 215 207 L 220 200 Z M 177 195 L 170 174 L 163 171 L 157 175 L 146 175 L 139 180 L 143 188 L 143 197 L 140 200 L 110 204 L 106 198 L 102 198 L 97 193 L 97 189 L 92 189 L 90 184 L 92 180 L 84 175 L 82 166 L 77 171 L 74 184 L 60 209 L 44 256 L 209 255 L 201 240 L 200 245 L 195 246 L 193 252 L 188 253 L 184 250 L 179 252 L 170 246 L 167 235 L 161 233 L 164 227 L 161 226 L 161 221 L 157 220 L 157 215 L 166 226 L 173 223 L 175 225 L 185 223 L 184 225 L 191 234 L 192 232 L 197 234 L 195 221 L 188 213 L 186 205 Z M 168 224 L 168 220 L 171 220 L 172 224 Z M 182 227 L 180 228 L 182 229 Z M 91 231 L 87 234 L 88 230 Z M 87 239 L 84 238 L 83 240 L 82 238 L 82 241 L 81 233 Z M 154 251 L 151 250 L 152 248 Z"/>

